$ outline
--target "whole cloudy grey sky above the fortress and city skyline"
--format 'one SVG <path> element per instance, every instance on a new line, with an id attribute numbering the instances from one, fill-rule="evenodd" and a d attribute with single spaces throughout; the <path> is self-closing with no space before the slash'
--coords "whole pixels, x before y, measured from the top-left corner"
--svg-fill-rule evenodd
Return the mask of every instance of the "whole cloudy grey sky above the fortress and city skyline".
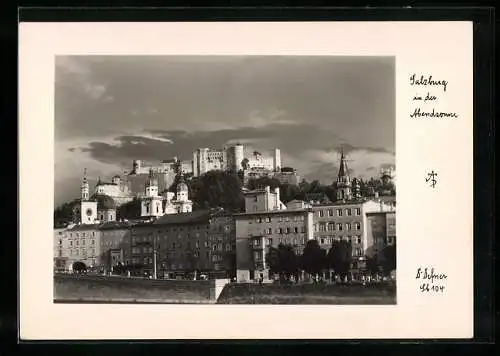
<path id="1" fill-rule="evenodd" d="M 57 56 L 55 204 L 133 159 L 192 159 L 241 142 L 331 184 L 395 164 L 393 57 Z"/>

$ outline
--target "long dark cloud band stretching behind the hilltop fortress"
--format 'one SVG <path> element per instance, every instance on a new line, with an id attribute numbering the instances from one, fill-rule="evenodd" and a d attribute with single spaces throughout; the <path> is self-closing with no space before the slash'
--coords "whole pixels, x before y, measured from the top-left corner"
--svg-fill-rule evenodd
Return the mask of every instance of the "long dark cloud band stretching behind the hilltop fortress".
<path id="1" fill-rule="evenodd" d="M 269 125 L 263 128 L 241 128 L 211 132 L 164 131 L 153 132 L 158 138 L 168 139 L 163 142 L 143 136 L 119 136 L 116 143 L 90 142 L 88 147 L 80 147 L 82 152 L 89 152 L 91 157 L 102 163 L 128 164 L 133 159 L 159 161 L 173 156 L 180 159 L 191 159 L 192 153 L 201 147 L 222 148 L 228 142 L 242 141 L 258 149 L 271 150 L 280 148 L 287 155 L 300 155 L 305 149 L 320 149 L 324 151 L 335 149 L 341 141 L 329 131 L 321 131 L 312 125 Z M 316 140 L 327 142 L 318 146 Z M 301 142 L 297 145 L 296 142 Z M 309 144 L 308 144 L 308 141 Z M 387 152 L 381 148 L 354 147 L 344 145 L 346 153 L 356 150 L 371 152 Z M 75 150 L 75 148 L 70 148 Z M 334 160 L 334 157 L 332 157 Z M 324 163 L 312 160 L 312 164 Z M 284 164 L 287 164 L 284 162 Z"/>

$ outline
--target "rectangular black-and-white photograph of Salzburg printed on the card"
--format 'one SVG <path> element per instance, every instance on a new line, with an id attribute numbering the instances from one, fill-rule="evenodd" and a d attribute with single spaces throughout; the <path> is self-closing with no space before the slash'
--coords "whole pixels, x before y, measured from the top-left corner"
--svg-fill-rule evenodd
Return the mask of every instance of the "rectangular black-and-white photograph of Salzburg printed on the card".
<path id="1" fill-rule="evenodd" d="M 397 304 L 395 63 L 57 55 L 54 303 Z"/>

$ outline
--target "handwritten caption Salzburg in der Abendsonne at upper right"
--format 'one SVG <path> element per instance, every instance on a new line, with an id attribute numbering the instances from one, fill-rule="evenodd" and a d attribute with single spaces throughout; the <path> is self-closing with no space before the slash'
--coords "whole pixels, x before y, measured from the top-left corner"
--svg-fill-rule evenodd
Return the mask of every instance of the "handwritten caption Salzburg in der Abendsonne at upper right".
<path id="1" fill-rule="evenodd" d="M 458 118 L 456 112 L 439 111 L 434 107 L 439 102 L 438 93 L 446 93 L 448 81 L 436 79 L 432 75 L 412 74 L 410 76 L 410 85 L 419 89 L 412 100 L 419 106 L 413 109 L 413 113 L 410 114 L 411 119 Z"/>

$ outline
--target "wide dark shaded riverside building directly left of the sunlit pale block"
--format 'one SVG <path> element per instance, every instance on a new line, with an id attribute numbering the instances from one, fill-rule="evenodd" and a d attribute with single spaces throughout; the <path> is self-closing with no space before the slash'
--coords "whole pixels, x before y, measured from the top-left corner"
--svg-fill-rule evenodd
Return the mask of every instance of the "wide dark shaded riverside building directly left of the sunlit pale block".
<path id="1" fill-rule="evenodd" d="M 162 216 L 131 228 L 131 264 L 141 273 L 175 278 L 185 272 L 232 274 L 235 225 L 231 215 L 200 210 Z"/>

